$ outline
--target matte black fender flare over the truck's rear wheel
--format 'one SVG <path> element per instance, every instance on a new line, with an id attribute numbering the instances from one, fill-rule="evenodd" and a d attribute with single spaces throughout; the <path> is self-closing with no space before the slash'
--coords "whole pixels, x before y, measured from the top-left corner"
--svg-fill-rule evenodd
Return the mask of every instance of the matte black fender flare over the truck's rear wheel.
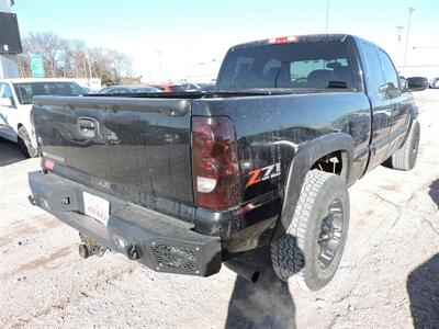
<path id="1" fill-rule="evenodd" d="M 340 174 L 348 181 L 353 154 L 353 139 L 346 133 L 331 133 L 301 145 L 295 151 L 284 185 L 280 217 L 272 239 L 279 239 L 291 224 L 301 194 L 306 173 L 320 159 L 339 152 L 341 159 Z"/>

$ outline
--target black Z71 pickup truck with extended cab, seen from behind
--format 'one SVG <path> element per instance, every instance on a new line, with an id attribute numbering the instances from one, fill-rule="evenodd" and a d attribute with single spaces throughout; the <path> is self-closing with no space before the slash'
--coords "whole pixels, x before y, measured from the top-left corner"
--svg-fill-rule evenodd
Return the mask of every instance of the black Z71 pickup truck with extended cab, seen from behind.
<path id="1" fill-rule="evenodd" d="M 36 97 L 30 201 L 79 230 L 85 258 L 202 276 L 225 262 L 256 280 L 241 256 L 271 246 L 281 280 L 318 290 L 340 262 L 348 188 L 415 166 L 423 88 L 337 34 L 234 46 L 214 92 Z"/>

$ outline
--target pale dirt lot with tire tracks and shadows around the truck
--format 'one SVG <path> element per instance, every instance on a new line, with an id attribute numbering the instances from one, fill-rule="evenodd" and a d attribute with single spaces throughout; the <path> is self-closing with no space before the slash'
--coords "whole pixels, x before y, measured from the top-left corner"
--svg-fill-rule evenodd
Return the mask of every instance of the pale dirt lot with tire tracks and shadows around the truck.
<path id="1" fill-rule="evenodd" d="M 416 168 L 378 168 L 350 189 L 340 269 L 317 293 L 274 280 L 249 284 L 158 274 L 121 254 L 81 260 L 77 232 L 26 201 L 27 171 L 0 140 L 0 327 L 438 328 L 439 90 L 416 94 Z"/>

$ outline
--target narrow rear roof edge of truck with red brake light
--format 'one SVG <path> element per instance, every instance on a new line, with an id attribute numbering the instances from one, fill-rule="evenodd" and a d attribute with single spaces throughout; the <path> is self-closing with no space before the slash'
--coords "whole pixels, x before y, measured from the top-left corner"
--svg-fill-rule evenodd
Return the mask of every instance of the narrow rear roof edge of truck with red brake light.
<path id="1" fill-rule="evenodd" d="M 306 34 L 272 37 L 238 44 L 233 48 L 249 48 L 268 44 L 301 43 L 301 42 L 344 42 L 347 37 L 357 37 L 350 34 Z"/>

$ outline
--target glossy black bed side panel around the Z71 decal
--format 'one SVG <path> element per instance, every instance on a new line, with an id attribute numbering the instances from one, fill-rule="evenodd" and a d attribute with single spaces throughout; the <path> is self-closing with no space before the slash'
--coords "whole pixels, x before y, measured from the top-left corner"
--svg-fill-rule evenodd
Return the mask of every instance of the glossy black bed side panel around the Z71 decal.
<path id="1" fill-rule="evenodd" d="M 233 120 L 243 203 L 269 192 L 281 193 L 294 154 L 306 143 L 330 133 L 347 133 L 353 139 L 348 183 L 360 178 L 367 166 L 371 116 L 369 100 L 362 92 L 200 100 L 193 103 L 192 113 Z M 277 164 L 278 175 L 272 174 L 277 173 Z M 255 170 L 271 166 L 269 179 L 249 184 Z"/>

